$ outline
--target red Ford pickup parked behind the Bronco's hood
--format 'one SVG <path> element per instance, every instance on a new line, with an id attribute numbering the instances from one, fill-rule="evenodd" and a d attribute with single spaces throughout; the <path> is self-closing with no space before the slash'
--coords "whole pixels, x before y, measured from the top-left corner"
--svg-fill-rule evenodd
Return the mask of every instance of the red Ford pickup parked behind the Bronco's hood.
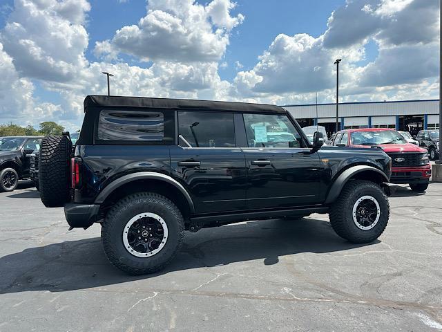
<path id="1" fill-rule="evenodd" d="M 414 192 L 425 192 L 431 176 L 427 150 L 411 144 L 394 129 L 368 128 L 339 131 L 333 145 L 381 147 L 392 158 L 391 183 L 407 183 Z"/>

